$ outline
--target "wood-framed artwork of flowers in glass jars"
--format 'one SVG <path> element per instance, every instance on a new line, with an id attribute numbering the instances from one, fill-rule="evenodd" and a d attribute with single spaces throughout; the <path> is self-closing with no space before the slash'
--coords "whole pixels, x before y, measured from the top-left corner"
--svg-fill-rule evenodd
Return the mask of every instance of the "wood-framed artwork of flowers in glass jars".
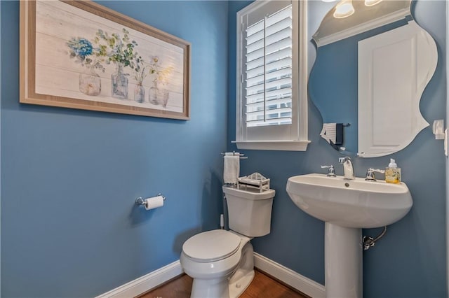
<path id="1" fill-rule="evenodd" d="M 20 1 L 20 102 L 189 120 L 190 44 L 93 1 Z"/>

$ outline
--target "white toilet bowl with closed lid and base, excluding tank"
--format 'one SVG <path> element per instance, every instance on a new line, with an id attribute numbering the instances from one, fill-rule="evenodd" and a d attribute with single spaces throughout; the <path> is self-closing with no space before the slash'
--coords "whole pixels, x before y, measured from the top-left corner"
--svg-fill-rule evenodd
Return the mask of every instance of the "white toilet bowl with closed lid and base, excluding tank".
<path id="1" fill-rule="evenodd" d="M 194 278 L 191 297 L 239 297 L 254 277 L 250 238 L 224 229 L 187 240 L 180 262 L 185 273 Z"/>

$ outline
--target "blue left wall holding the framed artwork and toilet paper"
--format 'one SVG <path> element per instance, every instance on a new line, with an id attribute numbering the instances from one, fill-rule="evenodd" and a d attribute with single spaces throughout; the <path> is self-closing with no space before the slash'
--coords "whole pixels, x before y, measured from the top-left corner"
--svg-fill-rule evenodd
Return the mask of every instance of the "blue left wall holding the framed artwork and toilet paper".
<path id="1" fill-rule="evenodd" d="M 1 1 L 1 297 L 99 295 L 219 226 L 227 2 L 101 4 L 192 43 L 192 120 L 19 104 L 19 3 Z"/>

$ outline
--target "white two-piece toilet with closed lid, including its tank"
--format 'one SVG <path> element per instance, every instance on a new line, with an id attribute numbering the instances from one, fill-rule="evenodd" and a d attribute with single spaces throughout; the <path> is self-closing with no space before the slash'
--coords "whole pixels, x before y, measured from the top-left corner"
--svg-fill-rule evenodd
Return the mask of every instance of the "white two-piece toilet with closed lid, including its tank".
<path id="1" fill-rule="evenodd" d="M 222 187 L 229 231 L 196 234 L 182 246 L 180 263 L 194 279 L 192 298 L 239 297 L 254 278 L 253 237 L 269 234 L 274 190 Z"/>

